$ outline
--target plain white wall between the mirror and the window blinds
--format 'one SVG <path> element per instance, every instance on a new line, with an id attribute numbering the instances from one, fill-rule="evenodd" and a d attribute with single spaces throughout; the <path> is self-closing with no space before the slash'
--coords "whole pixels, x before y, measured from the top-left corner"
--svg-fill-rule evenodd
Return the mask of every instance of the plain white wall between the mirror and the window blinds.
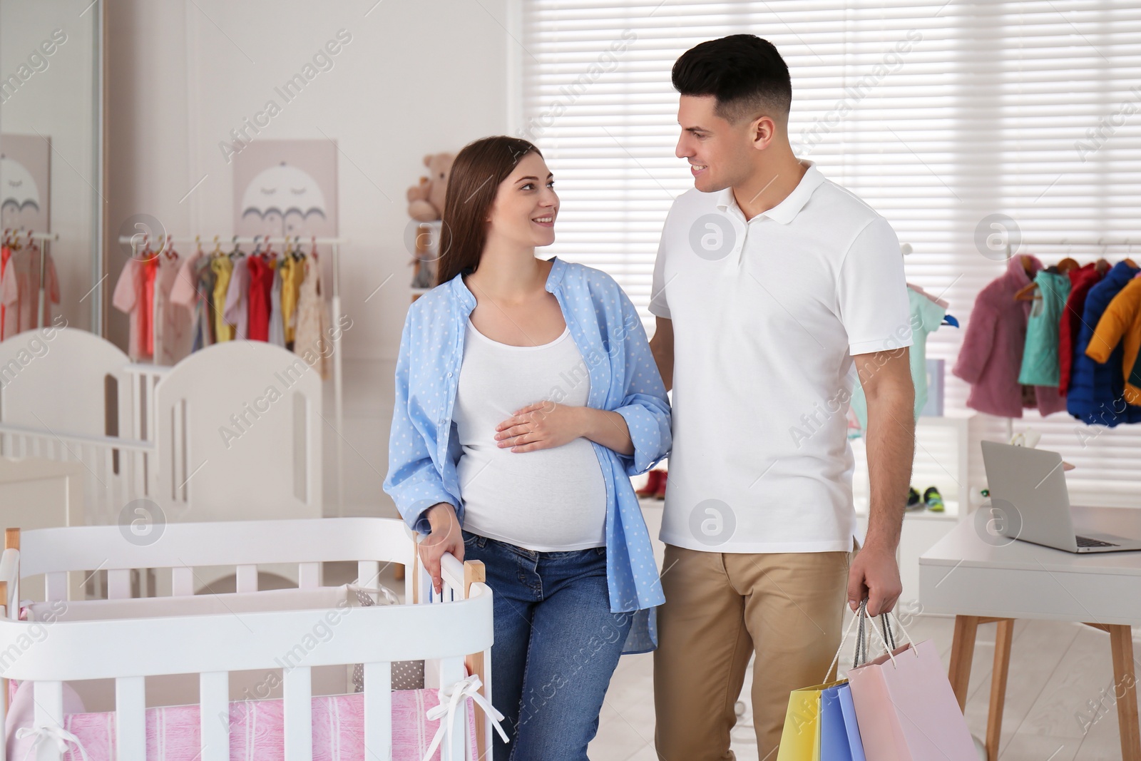
<path id="1" fill-rule="evenodd" d="M 233 176 L 218 144 L 269 98 L 282 112 L 261 138 L 337 140 L 340 230 L 353 241 L 341 251 L 342 308 L 353 319 L 343 335 L 340 431 L 348 512 L 391 505 L 380 484 L 412 274 L 403 243 L 405 189 L 420 176 L 426 153 L 454 152 L 507 131 L 508 0 L 106 6 L 108 236 L 139 213 L 176 235 L 228 233 Z M 351 40 L 333 56 L 332 68 L 284 103 L 274 88 L 339 30 Z M 107 245 L 113 286 L 122 254 L 113 242 Z M 126 315 L 110 313 L 110 335 L 124 346 Z M 326 402 L 325 418 L 333 423 L 331 381 Z M 325 429 L 327 500 L 335 483 L 329 453 L 338 437 Z"/>

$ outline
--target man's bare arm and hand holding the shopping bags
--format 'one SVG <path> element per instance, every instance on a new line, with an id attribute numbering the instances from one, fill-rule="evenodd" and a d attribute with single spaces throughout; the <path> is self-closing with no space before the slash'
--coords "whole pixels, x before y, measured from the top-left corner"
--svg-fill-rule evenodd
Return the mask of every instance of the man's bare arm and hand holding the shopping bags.
<path id="1" fill-rule="evenodd" d="M 867 536 L 848 575 L 852 610 L 867 598 L 867 613 L 891 610 L 903 592 L 896 548 L 915 458 L 915 386 L 908 348 L 853 357 L 867 398 L 867 468 L 872 486 Z"/>

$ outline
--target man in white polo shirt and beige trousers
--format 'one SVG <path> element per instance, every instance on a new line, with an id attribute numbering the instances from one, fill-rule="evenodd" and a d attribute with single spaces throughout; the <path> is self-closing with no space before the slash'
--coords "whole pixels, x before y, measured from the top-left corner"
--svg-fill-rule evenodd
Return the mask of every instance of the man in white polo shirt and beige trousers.
<path id="1" fill-rule="evenodd" d="M 883 217 L 793 155 L 792 86 L 771 43 L 704 42 L 672 78 L 694 188 L 666 218 L 649 307 L 673 389 L 656 745 L 666 761 L 733 759 L 755 654 L 753 722 L 771 760 L 790 690 L 824 681 L 844 604 L 867 599 L 877 615 L 901 591 L 915 427 L 903 257 Z M 857 373 L 872 485 L 863 548 L 845 415 Z"/>

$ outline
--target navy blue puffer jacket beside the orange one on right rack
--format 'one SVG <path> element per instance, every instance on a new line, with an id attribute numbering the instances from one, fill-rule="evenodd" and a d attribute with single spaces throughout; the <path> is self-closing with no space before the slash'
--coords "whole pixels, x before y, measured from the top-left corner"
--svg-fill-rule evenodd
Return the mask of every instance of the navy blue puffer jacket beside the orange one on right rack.
<path id="1" fill-rule="evenodd" d="M 1138 267 L 1128 260 L 1118 261 L 1100 283 L 1090 289 L 1085 299 L 1066 408 L 1071 415 L 1090 424 L 1112 428 L 1120 423 L 1141 422 L 1141 407 L 1120 402 L 1125 392 L 1124 348 L 1116 347 L 1102 364 L 1086 355 L 1102 314 L 1138 272 Z"/>

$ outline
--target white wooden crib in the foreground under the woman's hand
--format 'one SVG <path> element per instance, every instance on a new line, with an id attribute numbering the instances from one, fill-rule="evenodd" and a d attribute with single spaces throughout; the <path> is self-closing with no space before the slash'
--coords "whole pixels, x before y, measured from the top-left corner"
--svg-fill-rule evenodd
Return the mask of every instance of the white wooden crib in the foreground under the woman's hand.
<path id="1" fill-rule="evenodd" d="M 321 564 L 325 561 L 356 561 L 357 583 L 364 588 L 377 585 L 385 564 L 415 565 L 411 535 L 400 521 L 386 518 L 171 524 L 159 541 L 149 543 L 131 541 L 119 526 L 9 529 L 6 544 L 0 557 L 0 601 L 7 604 L 0 618 L 0 677 L 34 683 L 34 724 L 47 728 L 64 724 L 64 682 L 113 679 L 115 758 L 120 761 L 146 758 L 145 679 L 187 673 L 197 674 L 199 758 L 229 759 L 230 729 L 217 720 L 233 715 L 229 672 L 278 669 L 280 655 L 297 654 L 298 642 L 311 632 L 323 612 L 308 607 L 241 615 L 222 610 L 97 620 L 99 606 L 118 606 L 115 615 L 121 615 L 123 606 L 143 606 L 141 610 L 152 605 L 170 606 L 181 597 L 188 609 L 201 609 L 201 605 L 191 604 L 202 604 L 211 596 L 186 596 L 193 594 L 195 568 L 202 566 L 235 568 L 238 593 L 248 594 L 258 593 L 258 566 L 293 564 L 300 580 L 297 593 L 301 594 L 319 591 Z M 96 567 L 108 569 L 110 599 L 68 601 L 67 573 Z M 171 598 L 128 599 L 131 569 L 161 567 L 171 569 Z M 448 554 L 443 570 L 443 596 L 434 596 L 428 604 L 354 609 L 340 617 L 326 641 L 308 650 L 300 648 L 297 665 L 282 670 L 286 761 L 311 758 L 311 672 L 317 667 L 364 664 L 367 759 L 391 758 L 391 662 L 423 659 L 426 687 L 446 689 L 466 674 L 478 675 L 483 682 L 479 694 L 489 705 L 492 597 L 483 583 L 483 566 L 461 564 Z M 46 624 L 18 621 L 21 581 L 40 574 L 46 580 L 43 602 L 54 604 L 59 615 Z M 414 600 L 416 590 L 428 590 L 429 584 L 422 569 L 407 573 L 405 599 Z M 212 597 L 225 607 L 226 596 Z M 34 646 L 25 646 L 33 625 L 43 628 L 42 635 L 34 638 Z M 7 702 L 7 686 L 3 695 Z M 467 715 L 456 713 L 458 728 L 468 727 Z M 447 748 L 442 758 L 489 758 L 492 718 L 479 709 L 475 715 L 476 748 L 466 743 L 467 730 L 458 729 L 445 739 Z M 46 736 L 51 731 L 44 730 Z M 38 761 L 62 758 L 54 742 L 37 747 Z"/>

